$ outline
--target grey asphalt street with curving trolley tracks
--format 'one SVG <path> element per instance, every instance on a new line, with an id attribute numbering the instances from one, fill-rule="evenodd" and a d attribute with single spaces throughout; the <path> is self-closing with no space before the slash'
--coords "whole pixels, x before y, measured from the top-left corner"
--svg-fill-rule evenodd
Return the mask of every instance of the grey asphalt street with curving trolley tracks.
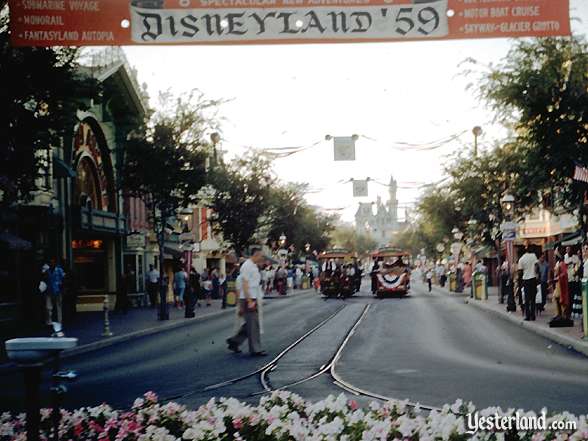
<path id="1" fill-rule="evenodd" d="M 148 390 L 191 407 L 215 396 L 255 402 L 264 391 L 258 374 L 206 388 L 256 371 L 307 334 L 268 367 L 267 388 L 318 400 L 352 385 L 429 406 L 462 398 L 479 407 L 588 413 L 583 355 L 420 284 L 407 298 L 385 300 L 372 298 L 367 286 L 346 301 L 313 293 L 266 302 L 265 358 L 248 356 L 246 346 L 243 354 L 227 351 L 232 314 L 69 358 L 65 367 L 80 378 L 65 406 L 126 408 Z M 333 364 L 344 385 L 334 382 Z M 43 388 L 47 398 L 47 381 Z M 0 376 L 0 391 L 0 410 L 22 410 L 20 374 Z"/>

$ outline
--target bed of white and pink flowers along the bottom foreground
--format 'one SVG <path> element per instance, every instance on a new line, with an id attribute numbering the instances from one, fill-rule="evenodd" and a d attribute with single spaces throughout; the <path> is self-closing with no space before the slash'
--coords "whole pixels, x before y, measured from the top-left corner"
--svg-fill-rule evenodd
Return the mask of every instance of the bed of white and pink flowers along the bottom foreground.
<path id="1" fill-rule="evenodd" d="M 175 440 L 250 440 L 250 441 L 370 441 L 370 440 L 584 440 L 588 439 L 586 417 L 571 414 L 551 415 L 551 421 L 573 421 L 575 431 L 562 432 L 478 432 L 466 433 L 466 417 L 474 412 L 471 404 L 461 401 L 441 411 L 421 412 L 407 402 L 373 402 L 360 408 L 344 395 L 329 396 L 310 403 L 289 392 L 275 392 L 252 406 L 234 398 L 210 400 L 191 411 L 177 403 L 160 404 L 148 392 L 135 401 L 129 411 L 116 411 L 106 404 L 63 411 L 61 440 L 101 441 L 175 441 Z M 514 409 L 479 411 L 479 415 L 514 415 Z M 522 413 L 534 416 L 533 413 Z M 41 439 L 52 435 L 51 412 L 41 413 Z M 0 416 L 0 440 L 26 440 L 25 416 Z"/>

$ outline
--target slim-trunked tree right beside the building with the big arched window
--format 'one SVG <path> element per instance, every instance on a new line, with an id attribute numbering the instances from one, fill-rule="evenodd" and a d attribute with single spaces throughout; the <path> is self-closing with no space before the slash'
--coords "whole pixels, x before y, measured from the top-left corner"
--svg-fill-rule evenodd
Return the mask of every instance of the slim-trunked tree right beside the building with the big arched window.
<path id="1" fill-rule="evenodd" d="M 166 225 L 180 208 L 198 202 L 198 192 L 206 183 L 210 146 L 203 139 L 213 125 L 206 114 L 218 103 L 199 92 L 176 99 L 164 94 L 160 101 L 161 110 L 129 136 L 121 186 L 127 195 L 142 199 L 149 209 L 158 238 L 159 268 L 163 271 Z M 163 277 L 160 280 L 159 318 L 167 320 L 167 287 Z"/>

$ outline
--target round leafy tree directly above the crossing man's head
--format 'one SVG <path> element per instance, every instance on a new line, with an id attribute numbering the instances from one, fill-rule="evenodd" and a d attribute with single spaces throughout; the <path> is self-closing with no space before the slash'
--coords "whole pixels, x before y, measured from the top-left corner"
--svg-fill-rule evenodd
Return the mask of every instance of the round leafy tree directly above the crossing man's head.
<path id="1" fill-rule="evenodd" d="M 229 164 L 214 167 L 209 183 L 214 189 L 209 202 L 215 214 L 213 226 L 241 255 L 259 241 L 271 219 L 270 189 L 275 183 L 271 164 L 250 151 Z"/>

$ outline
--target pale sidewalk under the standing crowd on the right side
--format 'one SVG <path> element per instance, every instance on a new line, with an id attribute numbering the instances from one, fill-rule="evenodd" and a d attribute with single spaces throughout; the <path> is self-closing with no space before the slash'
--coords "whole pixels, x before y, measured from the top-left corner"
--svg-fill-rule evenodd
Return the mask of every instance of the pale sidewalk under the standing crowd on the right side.
<path id="1" fill-rule="evenodd" d="M 545 305 L 545 311 L 543 311 L 541 315 L 537 315 L 534 322 L 526 322 L 518 304 L 517 310 L 515 312 L 507 312 L 506 303 L 498 303 L 498 288 L 495 286 L 488 288 L 488 300 L 476 300 L 470 298 L 469 288 L 464 290 L 463 293 L 449 292 L 447 287 L 441 288 L 440 286 L 433 286 L 433 288 L 436 291 L 442 292 L 443 294 L 450 295 L 452 297 L 462 297 L 464 298 L 465 303 L 469 305 L 490 312 L 504 320 L 509 320 L 513 323 L 516 323 L 517 325 L 522 326 L 525 329 L 539 334 L 560 345 L 574 349 L 575 351 L 584 355 L 588 355 L 588 340 L 582 339 L 583 334 L 580 320 L 574 320 L 574 327 L 572 328 L 549 327 L 549 321 L 556 315 L 555 304 L 553 303 L 548 302 Z"/>

